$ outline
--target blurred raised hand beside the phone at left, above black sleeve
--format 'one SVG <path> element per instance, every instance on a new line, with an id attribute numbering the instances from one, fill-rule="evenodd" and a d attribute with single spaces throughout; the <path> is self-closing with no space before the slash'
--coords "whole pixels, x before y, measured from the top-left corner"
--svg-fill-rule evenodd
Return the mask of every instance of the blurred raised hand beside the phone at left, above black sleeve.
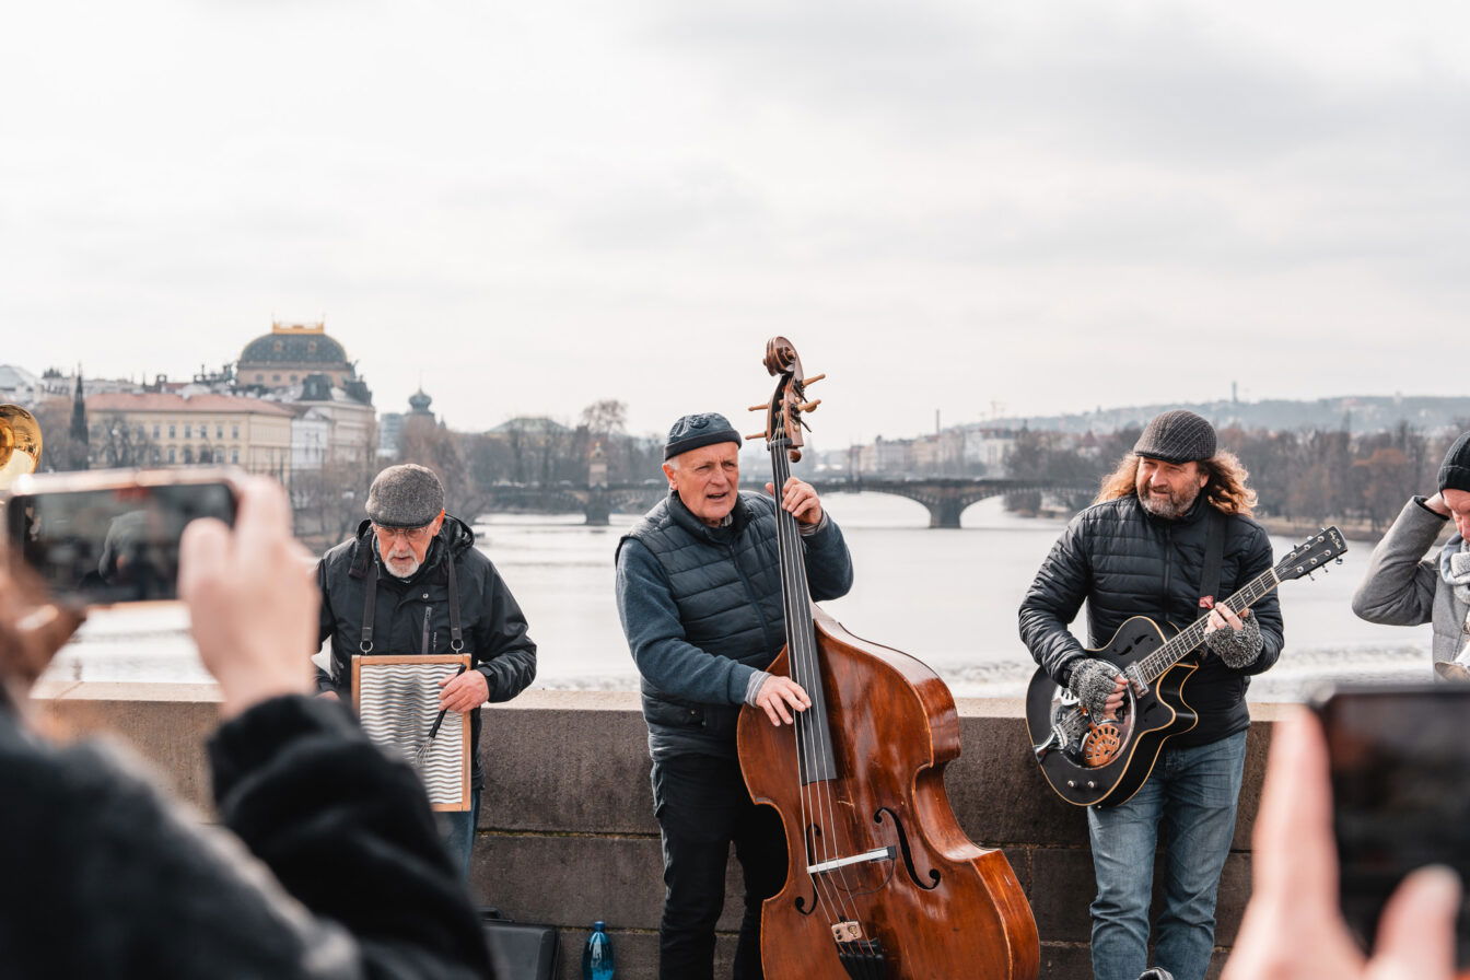
<path id="1" fill-rule="evenodd" d="M 234 530 L 215 519 L 184 529 L 179 597 L 226 718 L 268 698 L 312 693 L 301 651 L 316 645 L 320 595 L 304 557 L 285 491 L 266 478 L 241 485 Z"/>

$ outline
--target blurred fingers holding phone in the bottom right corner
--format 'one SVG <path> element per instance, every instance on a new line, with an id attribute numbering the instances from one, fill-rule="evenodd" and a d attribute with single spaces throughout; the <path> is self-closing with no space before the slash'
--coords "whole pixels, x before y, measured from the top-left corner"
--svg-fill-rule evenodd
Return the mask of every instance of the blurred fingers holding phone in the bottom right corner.
<path id="1" fill-rule="evenodd" d="M 1338 908 L 1332 785 L 1322 726 L 1305 708 L 1276 726 L 1260 815 L 1254 887 L 1223 980 L 1449 980 L 1460 882 L 1420 868 L 1389 899 L 1366 956 Z"/>

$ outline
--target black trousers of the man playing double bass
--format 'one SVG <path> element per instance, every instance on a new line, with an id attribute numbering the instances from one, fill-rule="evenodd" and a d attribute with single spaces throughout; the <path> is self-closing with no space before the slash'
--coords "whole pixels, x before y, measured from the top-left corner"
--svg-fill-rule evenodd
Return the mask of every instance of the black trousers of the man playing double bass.
<path id="1" fill-rule="evenodd" d="M 735 980 L 760 980 L 760 904 L 786 880 L 781 818 L 745 792 L 735 760 L 676 755 L 653 765 L 653 801 L 663 830 L 660 980 L 713 980 L 714 923 L 725 907 L 731 845 L 745 876 L 745 915 Z"/>

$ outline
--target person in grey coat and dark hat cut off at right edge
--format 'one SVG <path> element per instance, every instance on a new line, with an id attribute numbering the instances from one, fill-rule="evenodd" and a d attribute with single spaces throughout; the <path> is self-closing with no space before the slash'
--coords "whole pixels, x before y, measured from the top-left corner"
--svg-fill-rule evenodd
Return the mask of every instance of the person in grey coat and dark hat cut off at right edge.
<path id="1" fill-rule="evenodd" d="M 1386 626 L 1433 623 L 1435 674 L 1470 682 L 1466 617 L 1470 616 L 1470 432 L 1449 447 L 1439 464 L 1438 492 L 1411 497 L 1369 557 L 1363 583 L 1352 594 L 1358 619 Z M 1426 557 L 1454 522 L 1455 533 Z"/>

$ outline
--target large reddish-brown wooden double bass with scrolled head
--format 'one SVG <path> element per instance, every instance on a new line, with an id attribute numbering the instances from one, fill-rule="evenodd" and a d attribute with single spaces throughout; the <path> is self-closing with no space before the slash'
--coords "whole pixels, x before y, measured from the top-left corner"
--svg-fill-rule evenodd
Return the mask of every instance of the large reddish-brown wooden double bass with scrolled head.
<path id="1" fill-rule="evenodd" d="M 801 360 L 766 344 L 779 376 L 766 410 L 779 498 L 801 458 Z M 1036 923 L 997 849 L 975 845 L 944 789 L 960 755 L 945 683 L 919 660 L 848 633 L 807 589 L 795 519 L 776 510 L 786 646 L 769 667 L 806 689 L 795 724 L 759 710 L 739 717 L 745 786 L 781 815 L 785 886 L 761 908 L 767 980 L 1033 980 Z"/>

